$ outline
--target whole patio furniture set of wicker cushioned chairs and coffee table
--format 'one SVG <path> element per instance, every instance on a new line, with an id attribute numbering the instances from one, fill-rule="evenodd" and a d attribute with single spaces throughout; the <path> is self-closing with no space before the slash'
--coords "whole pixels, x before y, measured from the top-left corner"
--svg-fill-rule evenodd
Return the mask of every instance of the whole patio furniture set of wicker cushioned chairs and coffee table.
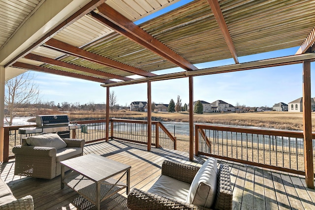
<path id="1" fill-rule="evenodd" d="M 15 175 L 43 179 L 62 175 L 61 188 L 69 186 L 97 210 L 103 200 L 124 188 L 131 210 L 232 209 L 229 167 L 220 164 L 218 169 L 215 158 L 208 158 L 201 167 L 164 160 L 161 176 L 148 191 L 134 188 L 129 192 L 131 166 L 96 154 L 83 155 L 84 144 L 84 140 L 62 139 L 58 134 L 25 138 L 22 146 L 13 148 Z M 67 170 L 71 172 L 65 173 Z M 125 175 L 126 181 L 121 181 Z M 2 180 L 0 183 L 0 210 L 10 209 L 7 206 L 14 202 L 31 207 L 23 209 L 33 209 L 32 196 L 17 200 Z M 7 194 L 2 195 L 2 188 L 12 201 L 5 200 Z"/>

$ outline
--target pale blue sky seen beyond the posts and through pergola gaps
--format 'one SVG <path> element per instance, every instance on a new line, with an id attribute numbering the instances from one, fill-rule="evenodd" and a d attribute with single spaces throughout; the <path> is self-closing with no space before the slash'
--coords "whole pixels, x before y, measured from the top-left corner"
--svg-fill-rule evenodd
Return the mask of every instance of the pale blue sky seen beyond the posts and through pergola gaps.
<path id="1" fill-rule="evenodd" d="M 140 24 L 161 13 L 170 11 L 191 0 L 182 0 L 158 11 L 151 16 L 135 22 Z M 239 61 L 263 60 L 294 55 L 298 48 L 290 48 L 270 53 L 239 57 Z M 233 64 L 233 59 L 195 64 L 199 69 L 213 66 Z M 314 66 L 311 65 L 311 78 L 314 78 Z M 184 71 L 181 68 L 167 69 L 154 72 L 156 74 Z M 39 85 L 41 100 L 85 104 L 89 102 L 105 103 L 106 88 L 100 83 L 89 82 L 70 77 L 34 72 L 36 83 Z M 314 81 L 314 79 L 312 79 Z M 285 65 L 247 71 L 230 72 L 197 76 L 193 79 L 193 100 L 214 102 L 223 100 L 232 105 L 239 103 L 252 107 L 269 106 L 275 103 L 289 103 L 302 97 L 302 64 Z M 313 83 L 315 84 L 315 83 Z M 129 105 L 132 101 L 147 101 L 147 85 L 137 84 L 110 88 L 115 91 L 118 104 Z M 312 87 L 312 93 L 315 88 Z M 176 101 L 180 95 L 182 102 L 189 102 L 188 78 L 152 82 L 152 101 L 168 104 L 171 99 Z M 313 97 L 315 95 L 312 95 Z"/>

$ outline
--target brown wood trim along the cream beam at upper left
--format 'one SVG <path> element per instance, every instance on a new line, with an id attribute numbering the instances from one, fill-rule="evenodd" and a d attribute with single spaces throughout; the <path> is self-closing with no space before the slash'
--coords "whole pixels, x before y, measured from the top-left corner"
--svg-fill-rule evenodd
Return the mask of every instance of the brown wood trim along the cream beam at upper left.
<path id="1" fill-rule="evenodd" d="M 61 24 L 59 24 L 54 29 L 50 30 L 48 33 L 43 35 L 38 41 L 36 41 L 34 44 L 32 44 L 28 49 L 21 52 L 18 56 L 16 56 L 14 59 L 10 60 L 7 64 L 5 64 L 5 67 L 8 67 L 12 65 L 16 60 L 24 57 L 25 55 L 29 54 L 34 48 L 42 45 L 45 41 L 49 40 L 51 37 L 55 36 L 57 33 L 62 31 L 67 26 L 70 26 L 77 20 L 79 20 L 84 15 L 88 14 L 90 11 L 95 9 L 97 6 L 104 3 L 105 0 L 91 0 L 89 3 L 87 3 L 85 6 L 83 6 L 81 9 L 79 9 L 77 12 L 75 12 L 73 15 L 71 15 L 69 18 L 67 18 L 65 21 L 63 21 Z"/>

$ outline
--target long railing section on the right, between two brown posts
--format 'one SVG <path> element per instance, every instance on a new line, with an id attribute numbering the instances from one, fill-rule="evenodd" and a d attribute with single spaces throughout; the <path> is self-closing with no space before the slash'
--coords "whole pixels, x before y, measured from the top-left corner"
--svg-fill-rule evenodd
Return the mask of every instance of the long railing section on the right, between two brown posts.
<path id="1" fill-rule="evenodd" d="M 196 124 L 195 133 L 196 155 L 305 174 L 303 132 Z"/>

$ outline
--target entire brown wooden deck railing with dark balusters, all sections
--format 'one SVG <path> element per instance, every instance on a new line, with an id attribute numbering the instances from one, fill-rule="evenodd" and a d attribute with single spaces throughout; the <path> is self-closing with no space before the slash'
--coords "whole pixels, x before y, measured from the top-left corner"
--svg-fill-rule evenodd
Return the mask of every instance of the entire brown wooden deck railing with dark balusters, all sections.
<path id="1" fill-rule="evenodd" d="M 105 120 L 74 122 L 81 124 L 82 127 L 71 130 L 71 138 L 85 139 L 87 143 L 106 139 Z M 147 144 L 147 123 L 146 120 L 111 119 L 109 138 Z M 30 126 L 34 125 L 4 127 L 4 161 L 14 157 L 12 148 L 20 145 L 23 137 L 38 135 L 18 133 L 20 127 Z M 189 126 L 164 126 L 159 121 L 152 121 L 151 130 L 152 145 L 156 147 L 176 150 L 177 144 L 189 142 Z M 204 154 L 289 173 L 305 174 L 303 132 L 196 124 L 194 136 L 196 155 Z"/>

